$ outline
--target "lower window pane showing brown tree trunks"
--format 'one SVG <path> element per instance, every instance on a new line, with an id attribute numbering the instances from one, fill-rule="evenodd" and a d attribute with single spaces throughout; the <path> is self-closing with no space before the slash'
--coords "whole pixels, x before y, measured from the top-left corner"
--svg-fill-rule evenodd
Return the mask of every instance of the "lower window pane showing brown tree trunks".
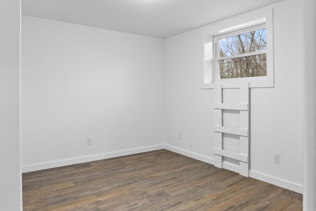
<path id="1" fill-rule="evenodd" d="M 220 60 L 220 79 L 267 76 L 267 54 Z"/>

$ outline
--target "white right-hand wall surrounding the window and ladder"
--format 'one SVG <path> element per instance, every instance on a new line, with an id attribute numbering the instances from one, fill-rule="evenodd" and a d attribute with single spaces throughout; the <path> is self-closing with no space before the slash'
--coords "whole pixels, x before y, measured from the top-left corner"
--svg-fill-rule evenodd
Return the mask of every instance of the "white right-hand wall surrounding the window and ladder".
<path id="1" fill-rule="evenodd" d="M 275 87 L 250 90 L 250 176 L 302 192 L 303 4 L 284 0 L 264 9 L 271 8 Z M 207 27 L 212 28 L 212 24 Z M 200 89 L 202 31 L 193 30 L 164 42 L 165 141 L 170 149 L 202 156 L 211 163 L 214 90 Z M 280 164 L 274 163 L 274 153 L 281 154 Z"/>

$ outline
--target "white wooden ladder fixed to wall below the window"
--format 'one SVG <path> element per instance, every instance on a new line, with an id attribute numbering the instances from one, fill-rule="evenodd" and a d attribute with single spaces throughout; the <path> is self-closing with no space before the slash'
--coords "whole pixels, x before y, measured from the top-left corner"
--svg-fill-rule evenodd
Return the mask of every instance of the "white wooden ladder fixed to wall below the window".
<path id="1" fill-rule="evenodd" d="M 238 88 L 239 89 L 239 103 L 241 105 L 249 104 L 249 82 L 247 83 L 216 83 L 215 93 L 214 93 L 214 157 L 215 157 L 215 167 L 224 168 L 238 172 L 239 174 L 248 177 L 249 176 L 249 111 L 240 110 L 239 111 L 239 128 L 235 127 L 223 127 L 223 110 L 217 109 L 216 105 L 223 104 L 223 89 L 224 88 Z M 224 103 L 227 108 L 230 103 Z M 233 104 L 234 109 L 236 109 L 236 103 Z M 238 107 L 241 107 L 238 105 Z M 248 106 L 246 106 L 247 108 Z M 239 135 L 239 153 L 227 151 L 223 149 L 223 133 L 230 133 Z M 225 162 L 223 159 L 232 158 L 239 161 L 239 165 L 234 165 L 230 162 Z"/>

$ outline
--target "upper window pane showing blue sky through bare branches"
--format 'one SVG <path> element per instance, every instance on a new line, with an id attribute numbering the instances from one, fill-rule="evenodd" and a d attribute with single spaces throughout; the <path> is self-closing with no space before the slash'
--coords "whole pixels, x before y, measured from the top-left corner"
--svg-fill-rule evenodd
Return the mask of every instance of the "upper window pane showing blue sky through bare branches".
<path id="1" fill-rule="evenodd" d="M 266 29 L 259 29 L 219 40 L 219 57 L 267 49 Z"/>

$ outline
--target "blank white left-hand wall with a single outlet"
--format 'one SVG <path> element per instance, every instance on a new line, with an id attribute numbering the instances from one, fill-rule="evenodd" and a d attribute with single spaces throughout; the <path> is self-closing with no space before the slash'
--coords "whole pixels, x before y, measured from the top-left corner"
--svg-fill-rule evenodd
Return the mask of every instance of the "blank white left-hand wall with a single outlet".
<path id="1" fill-rule="evenodd" d="M 160 39 L 23 15 L 21 80 L 24 169 L 162 142 Z"/>

